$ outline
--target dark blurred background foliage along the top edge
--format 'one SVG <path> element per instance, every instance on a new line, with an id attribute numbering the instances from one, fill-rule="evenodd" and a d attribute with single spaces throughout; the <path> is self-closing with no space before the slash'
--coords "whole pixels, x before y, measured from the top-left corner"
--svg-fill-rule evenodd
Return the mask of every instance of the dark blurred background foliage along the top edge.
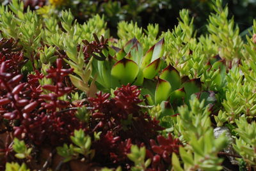
<path id="1" fill-rule="evenodd" d="M 0 0 L 8 4 L 12 0 Z M 93 15 L 104 15 L 111 35 L 116 37 L 116 27 L 122 20 L 137 22 L 139 27 L 147 28 L 148 24 L 159 24 L 159 33 L 173 29 L 177 25 L 179 11 L 189 10 L 195 17 L 197 34 L 205 33 L 207 19 L 213 11 L 211 0 L 23 0 L 31 9 L 43 8 L 45 13 L 58 15 L 58 11 L 70 8 L 78 22 L 84 22 Z M 256 17 L 256 0 L 224 0 L 228 3 L 230 17 L 238 24 L 240 31 L 246 34 Z M 243 35 L 242 35 L 243 36 Z"/>

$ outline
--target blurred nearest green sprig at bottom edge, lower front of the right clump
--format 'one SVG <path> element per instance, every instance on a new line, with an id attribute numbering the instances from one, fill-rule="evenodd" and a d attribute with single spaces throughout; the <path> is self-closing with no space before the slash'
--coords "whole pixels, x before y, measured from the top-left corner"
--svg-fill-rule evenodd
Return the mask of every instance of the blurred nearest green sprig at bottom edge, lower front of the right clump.
<path id="1" fill-rule="evenodd" d="M 181 167 L 175 153 L 172 154 L 172 165 L 175 171 L 181 170 L 222 170 L 220 166 L 223 161 L 218 158 L 218 152 L 227 146 L 227 138 L 222 135 L 215 138 L 212 130 L 207 130 L 205 135 L 197 138 L 191 136 L 191 142 L 187 147 L 180 147 L 180 158 L 184 162 Z"/>

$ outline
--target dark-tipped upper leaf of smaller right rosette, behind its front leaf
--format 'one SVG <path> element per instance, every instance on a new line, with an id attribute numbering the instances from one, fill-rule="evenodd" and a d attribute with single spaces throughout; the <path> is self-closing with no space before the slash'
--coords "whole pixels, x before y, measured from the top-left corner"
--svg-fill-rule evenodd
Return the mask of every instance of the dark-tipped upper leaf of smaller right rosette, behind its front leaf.
<path id="1" fill-rule="evenodd" d="M 164 68 L 160 73 L 159 78 L 170 82 L 172 85 L 172 90 L 179 89 L 181 84 L 181 78 L 179 72 L 171 65 Z"/>

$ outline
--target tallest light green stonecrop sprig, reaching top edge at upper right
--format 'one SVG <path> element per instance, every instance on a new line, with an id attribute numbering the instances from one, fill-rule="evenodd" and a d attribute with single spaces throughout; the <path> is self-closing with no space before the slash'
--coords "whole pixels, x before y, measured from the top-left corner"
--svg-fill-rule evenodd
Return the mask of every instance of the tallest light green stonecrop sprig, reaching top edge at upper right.
<path id="1" fill-rule="evenodd" d="M 214 11 L 209 17 L 207 29 L 211 38 L 218 45 L 218 54 L 231 65 L 243 58 L 241 50 L 243 41 L 239 36 L 238 26 L 234 27 L 234 18 L 228 20 L 228 8 L 222 8 L 222 0 L 214 2 Z"/>

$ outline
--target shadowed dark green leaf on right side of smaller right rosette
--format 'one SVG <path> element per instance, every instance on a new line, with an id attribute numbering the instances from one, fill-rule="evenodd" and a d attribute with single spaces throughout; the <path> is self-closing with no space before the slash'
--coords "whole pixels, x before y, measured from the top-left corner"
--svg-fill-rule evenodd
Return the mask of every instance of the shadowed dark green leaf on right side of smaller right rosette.
<path id="1" fill-rule="evenodd" d="M 200 78 L 195 78 L 195 79 L 186 81 L 182 84 L 182 87 L 184 87 L 186 91 L 186 102 L 188 102 L 192 94 L 198 93 L 202 90 Z"/>

